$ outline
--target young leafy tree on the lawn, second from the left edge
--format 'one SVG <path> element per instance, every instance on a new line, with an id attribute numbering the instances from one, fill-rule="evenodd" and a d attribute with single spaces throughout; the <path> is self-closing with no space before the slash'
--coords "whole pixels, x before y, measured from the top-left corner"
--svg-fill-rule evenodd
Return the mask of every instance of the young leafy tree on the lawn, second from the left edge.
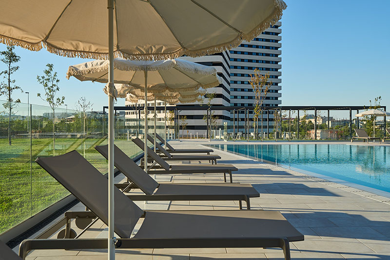
<path id="1" fill-rule="evenodd" d="M 56 98 L 57 93 L 59 92 L 59 79 L 57 77 L 57 72 L 53 72 L 53 64 L 48 63 L 46 65 L 47 69 L 43 71 L 43 76 L 37 75 L 38 83 L 43 86 L 45 90 L 45 96 L 42 98 L 40 93 L 37 94 L 39 98 L 43 101 L 49 103 L 53 111 L 53 154 L 56 154 L 56 136 L 55 136 L 55 111 L 56 108 L 64 103 L 65 97 Z"/>

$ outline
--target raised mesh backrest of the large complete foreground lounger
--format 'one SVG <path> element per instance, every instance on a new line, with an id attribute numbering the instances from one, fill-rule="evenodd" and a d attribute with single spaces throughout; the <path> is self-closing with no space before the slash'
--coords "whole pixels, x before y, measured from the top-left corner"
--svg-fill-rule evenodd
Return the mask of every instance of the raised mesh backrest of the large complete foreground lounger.
<path id="1" fill-rule="evenodd" d="M 35 161 L 108 224 L 108 181 L 89 161 L 77 151 Z M 130 238 L 143 211 L 116 187 L 114 198 L 114 231 L 121 238 Z"/>

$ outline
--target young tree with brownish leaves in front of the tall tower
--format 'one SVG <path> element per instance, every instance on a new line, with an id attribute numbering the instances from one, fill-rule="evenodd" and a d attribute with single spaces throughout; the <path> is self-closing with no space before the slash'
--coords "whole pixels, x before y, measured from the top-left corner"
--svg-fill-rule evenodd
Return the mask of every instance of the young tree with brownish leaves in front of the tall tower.
<path id="1" fill-rule="evenodd" d="M 270 73 L 265 75 L 260 74 L 260 70 L 255 68 L 254 74 L 251 74 L 251 80 L 249 83 L 252 86 L 254 92 L 254 132 L 256 140 L 258 137 L 258 118 L 261 115 L 261 140 L 263 140 L 263 103 L 267 97 L 268 90 L 272 85 L 272 81 L 269 81 Z"/>

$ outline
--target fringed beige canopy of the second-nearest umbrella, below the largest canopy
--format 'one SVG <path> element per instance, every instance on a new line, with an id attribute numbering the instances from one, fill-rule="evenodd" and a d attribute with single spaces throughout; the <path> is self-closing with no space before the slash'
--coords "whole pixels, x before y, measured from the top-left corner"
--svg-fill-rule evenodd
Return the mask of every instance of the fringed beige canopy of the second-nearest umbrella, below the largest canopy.
<path id="1" fill-rule="evenodd" d="M 200 87 L 210 88 L 220 84 L 214 67 L 187 60 L 114 60 L 115 83 L 144 89 L 144 71 L 148 72 L 148 93 L 195 91 Z M 93 60 L 70 66 L 66 77 L 69 79 L 71 76 L 81 81 L 107 83 L 108 60 Z"/>

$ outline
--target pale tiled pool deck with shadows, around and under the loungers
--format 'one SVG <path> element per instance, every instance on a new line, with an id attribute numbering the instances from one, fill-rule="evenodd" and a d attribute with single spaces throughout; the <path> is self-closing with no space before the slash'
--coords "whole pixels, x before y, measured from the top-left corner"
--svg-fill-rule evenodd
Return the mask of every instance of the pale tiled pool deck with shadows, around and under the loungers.
<path id="1" fill-rule="evenodd" d="M 203 144 L 226 143 L 202 140 L 171 141 L 177 148 L 202 148 Z M 229 143 L 233 143 L 232 141 Z M 235 141 L 245 143 L 246 141 Z M 253 143 L 253 142 L 250 142 Z M 267 141 L 266 144 L 295 143 Z M 299 142 L 346 143 L 351 142 Z M 353 142 L 362 145 L 362 142 Z M 366 145 L 366 144 L 365 144 Z M 379 142 L 369 143 L 379 145 Z M 389 145 L 389 143 L 381 144 Z M 280 211 L 293 226 L 305 235 L 304 241 L 292 242 L 292 259 L 389 259 L 390 260 L 390 198 L 364 193 L 346 184 L 312 177 L 269 163 L 259 162 L 225 151 L 215 150 L 221 156 L 218 163 L 234 164 L 234 182 L 252 183 L 260 198 L 251 199 L 252 209 Z M 188 163 L 188 162 L 184 162 Z M 191 163 L 199 163 L 192 161 Z M 117 177 L 117 181 L 123 180 Z M 159 176 L 157 181 L 220 182 L 222 174 L 181 174 Z M 132 192 L 137 192 L 133 190 Z M 238 210 L 238 201 L 158 201 L 137 203 L 146 209 L 171 210 Z M 79 203 L 72 210 L 84 210 Z M 142 223 L 138 223 L 138 226 Z M 75 225 L 73 225 L 75 227 Z M 75 228 L 78 232 L 79 230 Z M 136 227 L 137 230 L 137 227 Z M 82 238 L 103 238 L 107 227 L 97 221 Z M 54 236 L 56 237 L 56 235 Z M 28 260 L 105 260 L 106 250 L 37 250 Z M 134 260 L 210 260 L 210 259 L 284 259 L 280 249 L 212 248 L 212 249 L 120 249 L 116 259 Z"/>

